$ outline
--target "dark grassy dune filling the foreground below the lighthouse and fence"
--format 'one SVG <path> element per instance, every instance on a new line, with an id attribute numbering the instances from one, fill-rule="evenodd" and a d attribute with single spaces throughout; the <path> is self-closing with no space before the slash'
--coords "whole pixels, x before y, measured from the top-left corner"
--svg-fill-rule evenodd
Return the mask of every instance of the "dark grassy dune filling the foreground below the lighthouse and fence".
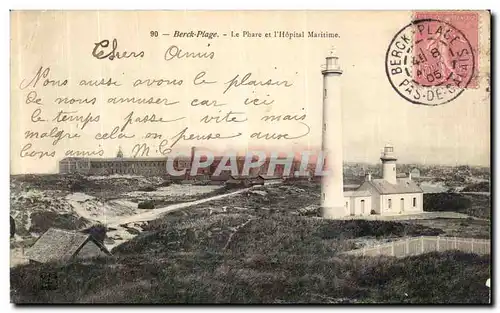
<path id="1" fill-rule="evenodd" d="M 489 256 L 360 258 L 363 237 L 435 235 L 422 225 L 225 212 L 179 215 L 113 258 L 11 270 L 15 303 L 486 303 Z M 406 295 L 405 295 L 406 293 Z"/>

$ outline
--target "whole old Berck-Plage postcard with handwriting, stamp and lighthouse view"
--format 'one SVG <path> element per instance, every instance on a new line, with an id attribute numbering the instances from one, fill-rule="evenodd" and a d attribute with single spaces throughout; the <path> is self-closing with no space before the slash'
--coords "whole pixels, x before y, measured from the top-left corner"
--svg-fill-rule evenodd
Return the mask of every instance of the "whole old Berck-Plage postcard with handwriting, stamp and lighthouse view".
<path id="1" fill-rule="evenodd" d="M 489 11 L 11 11 L 11 302 L 491 302 Z"/>

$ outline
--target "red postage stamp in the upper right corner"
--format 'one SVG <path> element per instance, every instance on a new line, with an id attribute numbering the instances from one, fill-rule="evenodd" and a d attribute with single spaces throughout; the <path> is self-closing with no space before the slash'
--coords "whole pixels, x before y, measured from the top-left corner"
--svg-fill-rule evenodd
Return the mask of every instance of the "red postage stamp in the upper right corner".
<path id="1" fill-rule="evenodd" d="M 472 11 L 415 12 L 413 75 L 423 86 L 476 88 L 479 18 Z"/>

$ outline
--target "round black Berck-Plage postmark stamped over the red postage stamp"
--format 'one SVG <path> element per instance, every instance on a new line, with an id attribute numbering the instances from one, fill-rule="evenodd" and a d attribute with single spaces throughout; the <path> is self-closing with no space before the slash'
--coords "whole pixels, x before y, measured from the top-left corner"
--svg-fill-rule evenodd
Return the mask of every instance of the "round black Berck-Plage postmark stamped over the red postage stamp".
<path id="1" fill-rule="evenodd" d="M 462 94 L 475 71 L 465 35 L 436 19 L 415 20 L 392 39 L 385 70 L 396 92 L 411 103 L 435 106 Z"/>

